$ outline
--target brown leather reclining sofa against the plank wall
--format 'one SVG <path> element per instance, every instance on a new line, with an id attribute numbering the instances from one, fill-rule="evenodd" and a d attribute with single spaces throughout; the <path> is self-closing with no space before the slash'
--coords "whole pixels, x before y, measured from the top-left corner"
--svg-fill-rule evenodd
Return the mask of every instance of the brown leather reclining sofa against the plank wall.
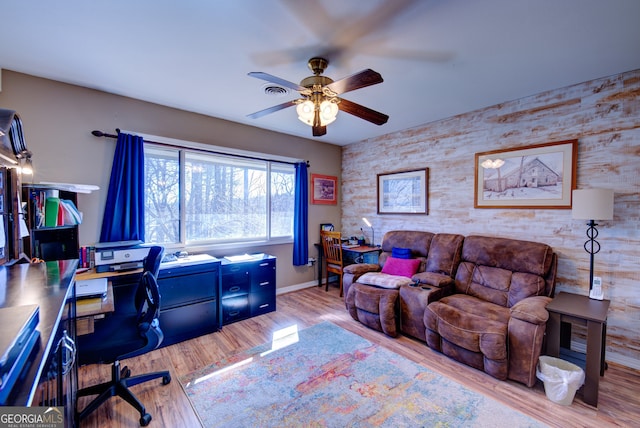
<path id="1" fill-rule="evenodd" d="M 420 260 L 411 278 L 384 273 L 399 248 Z M 355 320 L 392 337 L 416 337 L 495 378 L 535 384 L 549 316 L 545 308 L 555 289 L 557 256 L 551 247 L 391 231 L 381 249 L 378 264 L 344 269 L 345 305 Z"/>

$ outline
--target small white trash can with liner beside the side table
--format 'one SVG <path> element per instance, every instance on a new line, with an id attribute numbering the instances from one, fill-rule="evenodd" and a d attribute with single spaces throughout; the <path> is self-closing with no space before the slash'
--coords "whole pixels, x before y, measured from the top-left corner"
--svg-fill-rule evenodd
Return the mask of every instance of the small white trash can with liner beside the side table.
<path id="1" fill-rule="evenodd" d="M 560 358 L 540 356 L 536 376 L 544 382 L 544 392 L 554 403 L 569 406 L 584 383 L 584 370 Z"/>

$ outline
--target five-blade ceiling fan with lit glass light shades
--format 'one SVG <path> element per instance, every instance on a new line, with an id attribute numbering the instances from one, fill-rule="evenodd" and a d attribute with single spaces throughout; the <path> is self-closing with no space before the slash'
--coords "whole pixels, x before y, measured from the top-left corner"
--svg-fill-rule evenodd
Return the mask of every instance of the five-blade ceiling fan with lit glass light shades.
<path id="1" fill-rule="evenodd" d="M 257 119 L 295 105 L 297 106 L 296 112 L 298 113 L 298 119 L 312 127 L 314 137 L 319 137 L 327 133 L 327 125 L 336 119 L 339 110 L 375 123 L 376 125 L 387 123 L 389 116 L 386 114 L 338 97 L 338 95 L 344 94 L 345 92 L 382 83 L 383 80 L 380 73 L 366 69 L 334 82 L 331 78 L 322 75 L 329 65 L 329 61 L 326 59 L 314 57 L 309 60 L 308 65 L 311 71 L 313 71 L 313 76 L 302 79 L 299 85 L 268 73 L 249 73 L 251 77 L 295 89 L 300 92 L 302 98 L 260 110 L 247 115 L 247 117 Z"/>

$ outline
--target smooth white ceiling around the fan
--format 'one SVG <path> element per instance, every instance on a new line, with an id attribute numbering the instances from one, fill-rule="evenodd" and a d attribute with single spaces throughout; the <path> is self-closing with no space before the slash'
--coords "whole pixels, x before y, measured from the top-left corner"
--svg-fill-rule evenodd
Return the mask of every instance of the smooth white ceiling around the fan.
<path id="1" fill-rule="evenodd" d="M 638 0 L 31 0 L 0 17 L 0 68 L 304 138 L 294 108 L 246 117 L 298 98 L 247 73 L 371 68 L 384 82 L 342 97 L 390 119 L 341 112 L 315 138 L 338 145 L 640 69 Z"/>

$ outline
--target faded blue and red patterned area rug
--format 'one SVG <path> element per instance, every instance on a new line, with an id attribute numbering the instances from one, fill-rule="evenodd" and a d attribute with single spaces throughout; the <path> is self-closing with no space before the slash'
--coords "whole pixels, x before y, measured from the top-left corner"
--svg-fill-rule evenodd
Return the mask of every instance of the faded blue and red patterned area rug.
<path id="1" fill-rule="evenodd" d="M 205 427 L 541 427 L 323 322 L 180 379 Z"/>

